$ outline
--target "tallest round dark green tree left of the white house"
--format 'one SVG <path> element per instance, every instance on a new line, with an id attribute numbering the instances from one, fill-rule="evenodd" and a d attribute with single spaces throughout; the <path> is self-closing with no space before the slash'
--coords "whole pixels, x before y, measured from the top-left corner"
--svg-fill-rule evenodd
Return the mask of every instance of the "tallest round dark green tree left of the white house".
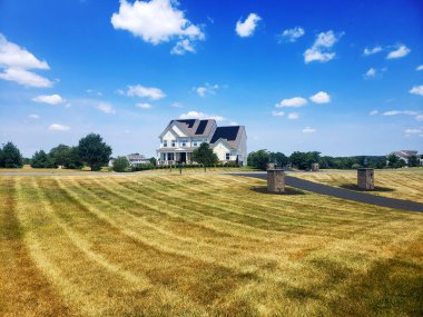
<path id="1" fill-rule="evenodd" d="M 102 141 L 100 135 L 89 133 L 79 140 L 78 153 L 91 170 L 100 170 L 102 166 L 108 164 L 111 148 Z"/>

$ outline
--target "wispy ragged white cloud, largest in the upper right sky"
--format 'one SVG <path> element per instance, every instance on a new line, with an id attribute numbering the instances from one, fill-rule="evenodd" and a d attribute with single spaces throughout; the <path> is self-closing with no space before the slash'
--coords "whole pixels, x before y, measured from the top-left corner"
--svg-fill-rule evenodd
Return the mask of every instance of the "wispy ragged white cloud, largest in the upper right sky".
<path id="1" fill-rule="evenodd" d="M 331 48 L 341 39 L 343 33 L 335 34 L 334 31 L 322 32 L 316 37 L 312 48 L 304 52 L 305 63 L 312 61 L 326 62 L 335 58 L 335 52 Z"/>

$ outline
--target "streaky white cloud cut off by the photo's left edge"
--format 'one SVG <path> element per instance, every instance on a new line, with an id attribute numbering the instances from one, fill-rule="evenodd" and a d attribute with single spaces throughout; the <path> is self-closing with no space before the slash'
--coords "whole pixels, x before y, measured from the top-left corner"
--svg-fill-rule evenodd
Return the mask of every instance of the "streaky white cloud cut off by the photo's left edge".
<path id="1" fill-rule="evenodd" d="M 48 88 L 52 82 L 29 69 L 50 69 L 45 60 L 37 59 L 31 52 L 9 42 L 6 37 L 0 33 L 0 78 L 9 81 L 18 82 L 27 87 Z"/>

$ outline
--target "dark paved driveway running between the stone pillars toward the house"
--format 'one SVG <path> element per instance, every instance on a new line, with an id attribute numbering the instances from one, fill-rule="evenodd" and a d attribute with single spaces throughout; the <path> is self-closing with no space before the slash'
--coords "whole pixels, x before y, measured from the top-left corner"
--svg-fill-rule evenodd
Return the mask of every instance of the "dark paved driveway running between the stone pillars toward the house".
<path id="1" fill-rule="evenodd" d="M 266 172 L 242 172 L 242 174 L 233 174 L 233 175 L 267 179 Z M 370 194 L 364 194 L 364 192 L 357 192 L 353 190 L 342 189 L 337 187 L 313 182 L 309 180 L 295 178 L 292 176 L 285 176 L 285 184 L 287 186 L 295 187 L 298 189 L 313 191 L 313 192 L 322 194 L 322 195 L 328 195 L 336 198 L 343 198 L 343 199 L 348 199 L 348 200 L 354 200 L 358 202 L 365 202 L 365 204 L 371 204 L 371 205 L 376 205 L 376 206 L 382 206 L 382 207 L 388 207 L 388 208 L 394 208 L 394 209 L 403 209 L 407 211 L 423 212 L 423 204 L 421 202 L 381 197 L 381 196 L 375 196 L 375 195 L 370 195 Z"/>

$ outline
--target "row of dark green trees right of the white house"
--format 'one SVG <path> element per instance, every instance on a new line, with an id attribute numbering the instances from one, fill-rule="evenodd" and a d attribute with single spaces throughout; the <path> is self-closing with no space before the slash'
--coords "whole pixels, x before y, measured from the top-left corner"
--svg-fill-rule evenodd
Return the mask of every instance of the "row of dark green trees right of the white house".
<path id="1" fill-rule="evenodd" d="M 279 167 L 286 167 L 289 165 L 301 170 L 311 169 L 312 164 L 315 162 L 317 162 L 322 169 L 356 169 L 361 167 L 401 168 L 404 166 L 420 166 L 420 157 L 410 157 L 409 162 L 405 164 L 403 159 L 400 159 L 394 153 L 387 156 L 331 157 L 321 156 L 321 152 L 318 151 L 295 151 L 287 157 L 282 152 L 272 152 L 264 149 L 248 153 L 247 164 L 250 167 L 265 170 L 269 162 L 276 164 Z"/>

